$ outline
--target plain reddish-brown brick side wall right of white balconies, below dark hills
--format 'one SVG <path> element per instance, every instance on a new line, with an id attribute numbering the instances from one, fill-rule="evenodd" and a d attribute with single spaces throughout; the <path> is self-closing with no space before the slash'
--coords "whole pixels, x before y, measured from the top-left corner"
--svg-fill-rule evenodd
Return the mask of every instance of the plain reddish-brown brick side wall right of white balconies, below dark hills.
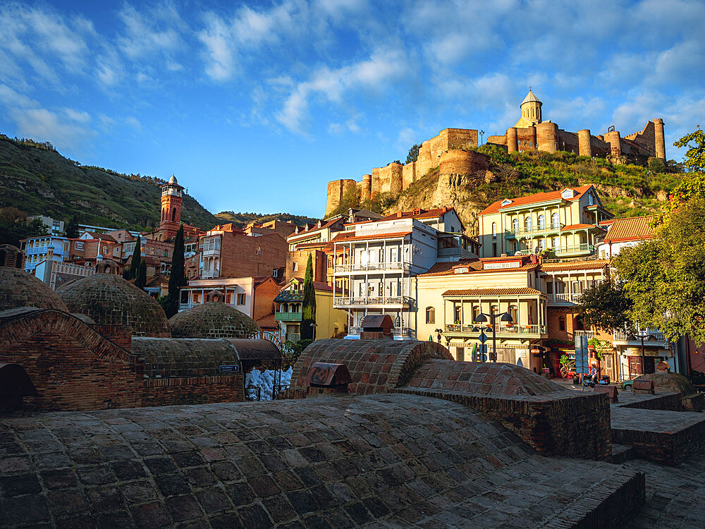
<path id="1" fill-rule="evenodd" d="M 287 253 L 288 244 L 278 233 L 250 237 L 226 231 L 221 242 L 220 276 L 271 276 L 272 270 L 286 266 Z"/>

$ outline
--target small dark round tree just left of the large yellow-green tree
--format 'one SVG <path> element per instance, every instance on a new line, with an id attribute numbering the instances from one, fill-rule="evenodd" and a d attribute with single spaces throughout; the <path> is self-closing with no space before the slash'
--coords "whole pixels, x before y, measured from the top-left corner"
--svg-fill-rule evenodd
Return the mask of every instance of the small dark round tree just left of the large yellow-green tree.
<path id="1" fill-rule="evenodd" d="M 590 286 L 580 296 L 577 310 L 585 324 L 607 332 L 632 328 L 630 310 L 632 300 L 625 294 L 620 282 L 605 279 Z"/>

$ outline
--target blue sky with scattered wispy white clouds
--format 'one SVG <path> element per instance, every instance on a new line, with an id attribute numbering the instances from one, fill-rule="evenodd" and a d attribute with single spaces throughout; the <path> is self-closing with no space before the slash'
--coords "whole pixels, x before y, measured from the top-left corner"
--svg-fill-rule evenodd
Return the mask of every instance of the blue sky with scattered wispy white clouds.
<path id="1" fill-rule="evenodd" d="M 565 130 L 705 125 L 691 0 L 0 1 L 0 132 L 168 178 L 212 212 L 306 214 L 529 86 Z M 485 136 L 486 136 L 485 135 Z"/>

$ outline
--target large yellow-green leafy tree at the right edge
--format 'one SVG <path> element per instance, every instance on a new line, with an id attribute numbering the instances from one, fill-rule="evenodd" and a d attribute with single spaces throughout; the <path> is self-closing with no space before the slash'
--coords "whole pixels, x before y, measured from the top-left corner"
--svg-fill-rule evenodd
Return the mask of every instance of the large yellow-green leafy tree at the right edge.
<path id="1" fill-rule="evenodd" d="M 670 341 L 688 334 L 698 346 L 705 343 L 705 197 L 679 202 L 650 241 L 624 248 L 613 264 L 632 300 L 633 321 Z"/>

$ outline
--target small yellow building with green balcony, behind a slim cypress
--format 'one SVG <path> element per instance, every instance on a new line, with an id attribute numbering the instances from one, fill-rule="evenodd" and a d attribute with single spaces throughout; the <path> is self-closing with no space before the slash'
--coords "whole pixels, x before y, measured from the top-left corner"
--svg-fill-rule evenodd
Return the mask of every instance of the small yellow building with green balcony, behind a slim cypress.
<path id="1" fill-rule="evenodd" d="M 333 287 L 326 283 L 313 282 L 316 292 L 316 339 L 333 338 L 346 332 L 348 315 L 344 310 L 333 308 Z M 304 280 L 294 277 L 279 291 L 274 303 L 274 320 L 279 327 L 281 341 L 301 339 L 301 315 L 304 300 Z"/>

